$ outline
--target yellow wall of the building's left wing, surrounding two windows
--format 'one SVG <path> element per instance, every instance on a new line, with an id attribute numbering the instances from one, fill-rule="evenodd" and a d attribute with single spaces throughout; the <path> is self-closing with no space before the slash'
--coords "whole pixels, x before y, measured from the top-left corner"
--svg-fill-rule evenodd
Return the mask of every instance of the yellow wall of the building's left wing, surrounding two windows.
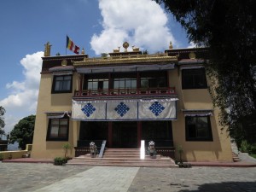
<path id="1" fill-rule="evenodd" d="M 64 156 L 62 146 L 65 143 L 70 143 L 72 149 L 68 150 L 67 156 L 74 156 L 73 147 L 77 143 L 78 123 L 69 120 L 69 137 L 68 141 L 46 141 L 49 119 L 45 112 L 61 112 L 72 110 L 72 97 L 74 90 L 79 90 L 78 74 L 73 74 L 73 91 L 72 93 L 51 94 L 51 85 L 53 81 L 52 74 L 42 74 L 39 95 L 37 118 L 33 137 L 33 158 L 55 158 Z"/>

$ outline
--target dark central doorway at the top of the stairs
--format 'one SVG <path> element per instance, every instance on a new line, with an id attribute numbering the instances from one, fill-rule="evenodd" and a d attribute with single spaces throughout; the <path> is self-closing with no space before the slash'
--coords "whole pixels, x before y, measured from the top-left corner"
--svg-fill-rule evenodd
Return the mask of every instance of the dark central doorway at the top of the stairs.
<path id="1" fill-rule="evenodd" d="M 113 122 L 113 148 L 137 148 L 137 121 Z"/>

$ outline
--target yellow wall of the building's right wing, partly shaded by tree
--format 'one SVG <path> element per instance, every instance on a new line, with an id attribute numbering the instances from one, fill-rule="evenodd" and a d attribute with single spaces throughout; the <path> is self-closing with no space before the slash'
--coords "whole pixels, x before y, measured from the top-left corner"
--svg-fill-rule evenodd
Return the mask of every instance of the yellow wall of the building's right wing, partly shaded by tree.
<path id="1" fill-rule="evenodd" d="M 182 146 L 183 160 L 187 161 L 232 161 L 230 137 L 218 125 L 218 108 L 213 108 L 212 99 L 207 89 L 182 90 L 181 71 L 176 68 L 169 73 L 170 86 L 177 91 L 177 120 L 172 121 L 174 146 Z M 209 84 L 209 82 L 208 82 Z M 212 109 L 211 142 L 187 142 L 185 136 L 185 117 L 182 109 Z M 176 157 L 178 153 L 176 151 Z M 178 158 L 177 158 L 178 159 Z"/>

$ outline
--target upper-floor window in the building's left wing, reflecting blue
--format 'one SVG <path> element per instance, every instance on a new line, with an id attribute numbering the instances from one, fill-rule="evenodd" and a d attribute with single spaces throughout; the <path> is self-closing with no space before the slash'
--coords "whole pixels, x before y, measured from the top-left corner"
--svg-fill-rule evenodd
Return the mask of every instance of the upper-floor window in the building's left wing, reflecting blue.
<path id="1" fill-rule="evenodd" d="M 52 86 L 52 93 L 71 93 L 72 75 L 55 76 Z"/>

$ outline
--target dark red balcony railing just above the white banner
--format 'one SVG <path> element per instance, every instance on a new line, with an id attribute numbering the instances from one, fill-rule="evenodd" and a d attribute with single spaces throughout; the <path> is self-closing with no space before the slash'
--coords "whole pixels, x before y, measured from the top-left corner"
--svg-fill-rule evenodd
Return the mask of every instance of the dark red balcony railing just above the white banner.
<path id="1" fill-rule="evenodd" d="M 74 96 L 152 96 L 174 95 L 175 87 L 109 89 L 109 90 L 76 90 Z"/>

